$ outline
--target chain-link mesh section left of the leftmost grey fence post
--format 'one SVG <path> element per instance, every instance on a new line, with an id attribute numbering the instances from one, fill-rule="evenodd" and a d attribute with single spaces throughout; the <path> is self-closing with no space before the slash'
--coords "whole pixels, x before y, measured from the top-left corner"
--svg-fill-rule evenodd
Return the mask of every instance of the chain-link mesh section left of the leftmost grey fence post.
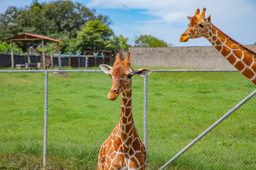
<path id="1" fill-rule="evenodd" d="M 1 72 L 0 95 L 0 169 L 40 166 L 44 73 Z"/>

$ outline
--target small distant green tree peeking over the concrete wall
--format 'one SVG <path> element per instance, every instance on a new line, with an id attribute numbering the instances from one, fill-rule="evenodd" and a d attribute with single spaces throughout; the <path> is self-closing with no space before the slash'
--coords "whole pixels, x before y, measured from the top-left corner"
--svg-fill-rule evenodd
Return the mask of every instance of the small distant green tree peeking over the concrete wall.
<path id="1" fill-rule="evenodd" d="M 164 40 L 159 40 L 159 38 L 153 35 L 140 35 L 137 40 L 135 40 L 134 47 L 168 47 L 171 46 L 167 44 Z"/>

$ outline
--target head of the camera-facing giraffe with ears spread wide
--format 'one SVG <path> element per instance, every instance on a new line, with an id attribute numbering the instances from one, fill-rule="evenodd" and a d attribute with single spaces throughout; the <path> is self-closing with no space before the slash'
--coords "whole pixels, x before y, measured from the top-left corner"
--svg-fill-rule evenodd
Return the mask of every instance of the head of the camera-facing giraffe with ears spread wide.
<path id="1" fill-rule="evenodd" d="M 107 64 L 100 64 L 100 68 L 105 74 L 109 74 L 112 78 L 113 84 L 107 98 L 114 101 L 118 95 L 124 91 L 129 91 L 132 88 L 132 76 L 137 75 L 145 77 L 152 71 L 150 69 L 132 69 L 129 62 L 129 52 L 127 52 L 125 59 L 121 59 L 121 55 L 117 54 L 117 60 L 114 66 L 110 67 Z"/>

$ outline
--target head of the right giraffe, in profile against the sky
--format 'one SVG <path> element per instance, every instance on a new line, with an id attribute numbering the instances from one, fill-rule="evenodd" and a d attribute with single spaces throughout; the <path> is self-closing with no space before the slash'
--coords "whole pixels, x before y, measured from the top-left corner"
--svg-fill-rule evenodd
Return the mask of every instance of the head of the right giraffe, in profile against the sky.
<path id="1" fill-rule="evenodd" d="M 208 18 L 205 17 L 206 8 L 203 8 L 203 12 L 201 14 L 200 10 L 197 9 L 195 16 L 187 16 L 189 28 L 181 35 L 180 42 L 186 42 L 190 38 L 201 38 L 207 36 L 208 27 L 210 26 L 210 16 Z"/>

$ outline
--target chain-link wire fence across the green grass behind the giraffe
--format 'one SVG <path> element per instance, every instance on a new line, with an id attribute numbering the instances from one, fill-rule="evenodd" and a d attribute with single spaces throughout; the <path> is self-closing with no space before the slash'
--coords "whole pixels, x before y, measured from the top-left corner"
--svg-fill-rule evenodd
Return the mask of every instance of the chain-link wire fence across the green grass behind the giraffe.
<path id="1" fill-rule="evenodd" d="M 48 74 L 48 110 L 45 78 Z M 0 72 L 0 169 L 97 169 L 100 147 L 119 121 L 120 97 L 98 71 Z M 155 70 L 147 78 L 147 169 L 159 169 L 255 90 L 238 72 Z M 256 169 L 252 98 L 166 169 Z M 144 139 L 144 79 L 133 77 L 132 109 Z"/>

